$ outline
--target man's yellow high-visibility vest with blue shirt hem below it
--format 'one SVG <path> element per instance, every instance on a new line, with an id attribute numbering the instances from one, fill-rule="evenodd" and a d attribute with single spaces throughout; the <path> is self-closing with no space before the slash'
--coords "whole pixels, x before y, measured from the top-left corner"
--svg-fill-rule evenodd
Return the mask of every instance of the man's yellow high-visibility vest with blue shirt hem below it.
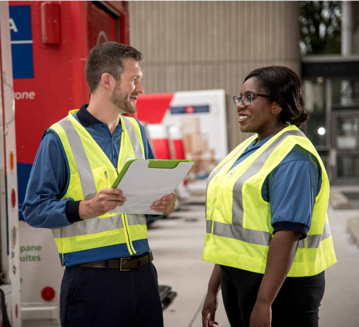
<path id="1" fill-rule="evenodd" d="M 92 136 L 69 112 L 50 127 L 67 157 L 67 184 L 60 198 L 74 201 L 94 197 L 110 188 L 118 174 L 111 161 Z M 118 171 L 126 158 L 144 159 L 144 147 L 138 122 L 120 116 L 121 134 Z M 69 226 L 52 229 L 62 264 L 75 264 L 120 258 L 149 251 L 145 215 L 107 213 Z"/>

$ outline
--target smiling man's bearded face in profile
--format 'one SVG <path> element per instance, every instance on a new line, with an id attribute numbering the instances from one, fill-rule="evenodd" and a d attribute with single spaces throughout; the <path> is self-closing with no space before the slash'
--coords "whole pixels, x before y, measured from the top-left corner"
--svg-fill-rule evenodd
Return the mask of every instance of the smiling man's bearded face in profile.
<path id="1" fill-rule="evenodd" d="M 124 71 L 120 81 L 116 82 L 111 101 L 122 112 L 133 113 L 137 111 L 136 102 L 139 93 L 144 92 L 140 82 L 142 70 L 140 64 L 134 59 L 124 59 L 123 65 Z"/>

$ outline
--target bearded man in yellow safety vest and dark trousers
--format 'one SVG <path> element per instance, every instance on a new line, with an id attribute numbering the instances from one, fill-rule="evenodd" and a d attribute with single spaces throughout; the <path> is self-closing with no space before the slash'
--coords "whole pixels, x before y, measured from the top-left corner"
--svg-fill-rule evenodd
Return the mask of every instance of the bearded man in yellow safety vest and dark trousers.
<path id="1" fill-rule="evenodd" d="M 88 105 L 44 132 L 22 213 L 33 227 L 51 228 L 65 272 L 62 327 L 163 326 L 157 272 L 147 241 L 146 215 L 110 213 L 126 201 L 111 188 L 126 158 L 154 159 L 133 118 L 143 87 L 142 54 L 115 42 L 90 51 Z M 154 185 L 154 187 L 156 187 Z M 174 193 L 151 207 L 173 212 Z"/>

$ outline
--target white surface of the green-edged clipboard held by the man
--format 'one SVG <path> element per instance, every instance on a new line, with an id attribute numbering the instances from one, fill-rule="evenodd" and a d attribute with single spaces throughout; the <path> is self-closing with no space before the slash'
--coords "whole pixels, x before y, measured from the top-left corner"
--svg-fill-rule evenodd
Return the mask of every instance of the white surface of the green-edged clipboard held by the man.
<path id="1" fill-rule="evenodd" d="M 176 168 L 163 169 L 148 168 L 149 163 L 149 160 L 131 163 L 117 187 L 127 200 L 111 213 L 161 215 L 151 209 L 153 202 L 171 194 L 193 165 L 193 162 L 180 162 Z"/>

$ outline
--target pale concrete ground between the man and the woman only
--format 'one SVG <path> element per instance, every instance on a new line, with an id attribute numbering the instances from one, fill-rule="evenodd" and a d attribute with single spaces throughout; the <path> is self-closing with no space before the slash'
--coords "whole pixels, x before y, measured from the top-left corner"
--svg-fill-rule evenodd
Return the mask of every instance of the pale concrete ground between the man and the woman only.
<path id="1" fill-rule="evenodd" d="M 204 205 L 187 205 L 166 219 L 159 219 L 148 230 L 159 283 L 178 293 L 163 313 L 165 327 L 187 327 L 207 292 L 214 264 L 201 260 L 206 235 Z M 216 321 L 229 327 L 219 296 Z M 201 327 L 201 314 L 192 327 Z"/>

